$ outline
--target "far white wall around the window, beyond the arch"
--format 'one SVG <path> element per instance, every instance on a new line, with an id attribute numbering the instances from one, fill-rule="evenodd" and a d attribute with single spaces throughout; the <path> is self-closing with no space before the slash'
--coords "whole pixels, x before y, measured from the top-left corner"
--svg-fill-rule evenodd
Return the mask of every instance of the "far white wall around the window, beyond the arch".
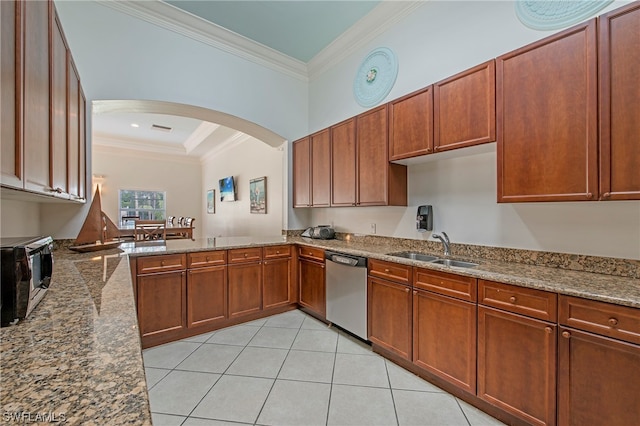
<path id="1" fill-rule="evenodd" d="M 195 217 L 194 236 L 202 232 L 200 163 L 196 159 L 134 150 L 93 147 L 93 171 L 104 176 L 102 211 L 118 223 L 118 191 L 165 191 L 167 216 Z M 91 192 L 95 191 L 95 182 Z"/>

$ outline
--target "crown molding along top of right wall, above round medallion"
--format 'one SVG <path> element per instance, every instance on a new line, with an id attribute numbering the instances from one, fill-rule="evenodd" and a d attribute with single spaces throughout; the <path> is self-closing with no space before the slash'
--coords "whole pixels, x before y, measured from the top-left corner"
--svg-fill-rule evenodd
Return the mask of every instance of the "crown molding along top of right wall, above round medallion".
<path id="1" fill-rule="evenodd" d="M 390 27 L 412 14 L 422 1 L 382 1 L 371 12 L 325 47 L 307 63 L 313 79 L 362 48 Z"/>

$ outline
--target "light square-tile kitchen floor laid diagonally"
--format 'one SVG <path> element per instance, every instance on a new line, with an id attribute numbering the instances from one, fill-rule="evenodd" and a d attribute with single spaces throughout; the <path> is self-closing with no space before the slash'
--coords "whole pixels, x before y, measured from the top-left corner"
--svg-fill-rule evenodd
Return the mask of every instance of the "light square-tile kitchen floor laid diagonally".
<path id="1" fill-rule="evenodd" d="M 502 424 L 299 310 L 143 358 L 156 426 Z"/>

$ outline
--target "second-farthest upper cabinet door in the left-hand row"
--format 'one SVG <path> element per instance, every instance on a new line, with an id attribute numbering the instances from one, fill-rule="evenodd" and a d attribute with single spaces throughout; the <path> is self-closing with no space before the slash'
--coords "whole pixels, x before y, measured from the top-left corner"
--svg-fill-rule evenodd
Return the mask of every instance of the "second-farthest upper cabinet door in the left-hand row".
<path id="1" fill-rule="evenodd" d="M 76 70 L 71 55 L 69 55 L 69 99 L 67 108 L 68 120 L 68 182 L 69 195 L 73 199 L 81 198 L 80 195 L 80 77 Z"/>

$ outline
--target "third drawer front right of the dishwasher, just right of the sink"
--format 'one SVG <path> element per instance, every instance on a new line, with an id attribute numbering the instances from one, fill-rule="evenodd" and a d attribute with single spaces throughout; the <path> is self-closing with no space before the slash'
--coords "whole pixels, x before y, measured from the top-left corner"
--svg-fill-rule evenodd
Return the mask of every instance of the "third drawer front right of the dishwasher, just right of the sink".
<path id="1" fill-rule="evenodd" d="M 551 322 L 558 314 L 555 293 L 493 281 L 478 281 L 478 303 Z"/>

